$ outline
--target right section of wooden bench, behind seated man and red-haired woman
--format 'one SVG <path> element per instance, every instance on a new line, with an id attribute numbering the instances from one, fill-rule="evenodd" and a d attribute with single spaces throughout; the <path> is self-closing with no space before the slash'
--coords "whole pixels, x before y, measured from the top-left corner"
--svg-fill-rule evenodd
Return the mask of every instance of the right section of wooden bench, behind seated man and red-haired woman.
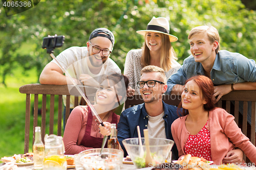
<path id="1" fill-rule="evenodd" d="M 163 101 L 169 105 L 178 106 L 181 100 L 181 96 L 176 95 L 163 95 Z M 233 101 L 233 102 L 231 102 Z M 243 102 L 243 115 L 239 113 L 239 101 Z M 251 126 L 247 123 L 247 106 L 248 102 L 251 104 Z M 256 102 L 256 90 L 248 91 L 231 91 L 230 93 L 222 96 L 218 102 L 218 107 L 224 108 L 228 113 L 234 115 L 234 121 L 242 129 L 242 132 L 250 139 L 255 145 L 255 102 Z M 127 98 L 125 101 L 125 109 L 143 103 L 143 99 L 140 95 L 134 95 Z M 252 128 L 251 128 L 252 127 Z M 244 160 L 246 157 L 244 155 Z"/>

